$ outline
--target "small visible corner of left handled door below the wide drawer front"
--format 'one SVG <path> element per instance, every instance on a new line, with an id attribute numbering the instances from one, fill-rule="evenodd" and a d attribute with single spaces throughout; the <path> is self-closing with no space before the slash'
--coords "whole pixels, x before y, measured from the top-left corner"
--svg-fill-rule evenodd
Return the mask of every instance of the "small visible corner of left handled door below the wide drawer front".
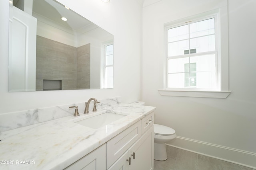
<path id="1" fill-rule="evenodd" d="M 128 170 L 129 151 L 127 150 L 108 170 Z"/>

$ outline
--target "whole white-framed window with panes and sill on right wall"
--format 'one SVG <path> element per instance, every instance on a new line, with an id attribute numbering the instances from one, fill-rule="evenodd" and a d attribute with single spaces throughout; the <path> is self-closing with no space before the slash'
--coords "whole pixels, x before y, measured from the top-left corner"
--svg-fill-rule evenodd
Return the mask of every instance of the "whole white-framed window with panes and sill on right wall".
<path id="1" fill-rule="evenodd" d="M 226 98 L 228 10 L 216 10 L 165 24 L 166 57 L 162 96 Z"/>

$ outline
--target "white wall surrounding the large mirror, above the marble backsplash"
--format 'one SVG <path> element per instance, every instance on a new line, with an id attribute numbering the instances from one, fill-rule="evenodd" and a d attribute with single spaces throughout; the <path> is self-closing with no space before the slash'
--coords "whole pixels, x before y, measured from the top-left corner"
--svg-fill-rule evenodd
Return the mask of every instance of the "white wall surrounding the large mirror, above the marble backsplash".
<path id="1" fill-rule="evenodd" d="M 8 92 L 8 0 L 0 1 L 0 113 L 121 96 L 141 99 L 142 7 L 136 0 L 59 0 L 114 35 L 114 89 Z M 84 108 L 80 108 L 81 112 Z M 80 111 L 80 110 L 79 110 Z"/>

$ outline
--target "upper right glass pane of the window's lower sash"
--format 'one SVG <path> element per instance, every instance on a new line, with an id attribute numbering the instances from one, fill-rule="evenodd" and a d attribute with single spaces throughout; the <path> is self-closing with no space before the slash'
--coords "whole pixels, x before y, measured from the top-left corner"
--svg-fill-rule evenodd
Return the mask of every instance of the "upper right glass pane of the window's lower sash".
<path id="1" fill-rule="evenodd" d="M 202 55 L 196 57 L 190 57 L 190 63 L 196 63 L 196 71 L 212 71 L 215 72 L 215 55 Z M 190 69 L 190 72 L 193 72 Z"/>

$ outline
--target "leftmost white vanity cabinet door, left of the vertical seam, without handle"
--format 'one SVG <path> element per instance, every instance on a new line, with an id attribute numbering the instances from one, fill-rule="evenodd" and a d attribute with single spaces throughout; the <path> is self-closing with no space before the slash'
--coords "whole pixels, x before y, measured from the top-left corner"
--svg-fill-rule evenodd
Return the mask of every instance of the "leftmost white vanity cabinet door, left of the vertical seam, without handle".
<path id="1" fill-rule="evenodd" d="M 106 170 L 106 144 L 98 147 L 65 170 Z"/>

